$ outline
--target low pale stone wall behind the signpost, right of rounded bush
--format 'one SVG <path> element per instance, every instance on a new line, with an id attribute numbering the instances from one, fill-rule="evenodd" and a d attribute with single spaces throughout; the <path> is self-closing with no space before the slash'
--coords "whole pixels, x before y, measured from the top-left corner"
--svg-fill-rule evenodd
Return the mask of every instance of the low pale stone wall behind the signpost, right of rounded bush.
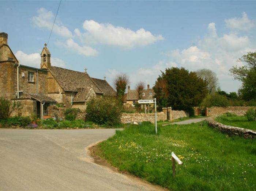
<path id="1" fill-rule="evenodd" d="M 166 114 L 164 112 L 157 113 L 157 121 L 165 121 Z M 122 113 L 122 123 L 150 121 L 155 122 L 155 113 Z"/>

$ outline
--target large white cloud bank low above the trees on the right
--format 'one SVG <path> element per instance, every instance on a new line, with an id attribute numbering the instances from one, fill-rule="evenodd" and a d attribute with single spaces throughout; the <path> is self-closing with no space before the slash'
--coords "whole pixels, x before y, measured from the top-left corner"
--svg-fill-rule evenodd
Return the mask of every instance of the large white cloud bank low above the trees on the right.
<path id="1" fill-rule="evenodd" d="M 218 36 L 215 23 L 210 23 L 208 33 L 199 40 L 197 46 L 172 50 L 165 55 L 170 57 L 170 62 L 175 62 L 178 67 L 185 67 L 190 71 L 211 69 L 218 74 L 220 85 L 223 85 L 224 90 L 237 91 L 241 83 L 233 81 L 229 69 L 234 65 L 241 65 L 242 63 L 236 62 L 237 59 L 255 49 L 256 46 L 248 36 L 239 36 L 234 32 Z M 232 85 L 227 85 L 227 82 Z"/>

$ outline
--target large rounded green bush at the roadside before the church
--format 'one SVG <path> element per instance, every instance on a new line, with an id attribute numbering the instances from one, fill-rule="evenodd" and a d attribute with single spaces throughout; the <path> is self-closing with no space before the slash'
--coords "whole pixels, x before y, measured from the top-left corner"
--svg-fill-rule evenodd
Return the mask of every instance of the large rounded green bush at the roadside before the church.
<path id="1" fill-rule="evenodd" d="M 116 98 L 95 97 L 87 102 L 86 120 L 99 125 L 115 126 L 121 121 L 122 108 Z"/>

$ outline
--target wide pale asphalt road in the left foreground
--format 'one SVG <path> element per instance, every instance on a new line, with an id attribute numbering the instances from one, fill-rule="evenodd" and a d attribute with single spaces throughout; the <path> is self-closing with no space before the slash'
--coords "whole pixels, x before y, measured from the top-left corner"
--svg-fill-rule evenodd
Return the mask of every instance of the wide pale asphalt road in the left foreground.
<path id="1" fill-rule="evenodd" d="M 86 147 L 116 129 L 0 129 L 0 190 L 158 190 L 95 164 Z"/>

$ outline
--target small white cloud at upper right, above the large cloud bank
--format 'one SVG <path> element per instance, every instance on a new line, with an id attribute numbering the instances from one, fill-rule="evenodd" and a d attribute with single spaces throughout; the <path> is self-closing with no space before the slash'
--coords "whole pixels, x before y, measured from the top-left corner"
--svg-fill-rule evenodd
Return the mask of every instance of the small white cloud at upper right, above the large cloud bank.
<path id="1" fill-rule="evenodd" d="M 248 18 L 245 12 L 242 13 L 241 18 L 231 18 L 231 19 L 225 19 L 226 26 L 231 29 L 237 29 L 237 30 L 250 30 L 252 27 L 255 26 L 255 24 Z"/>

